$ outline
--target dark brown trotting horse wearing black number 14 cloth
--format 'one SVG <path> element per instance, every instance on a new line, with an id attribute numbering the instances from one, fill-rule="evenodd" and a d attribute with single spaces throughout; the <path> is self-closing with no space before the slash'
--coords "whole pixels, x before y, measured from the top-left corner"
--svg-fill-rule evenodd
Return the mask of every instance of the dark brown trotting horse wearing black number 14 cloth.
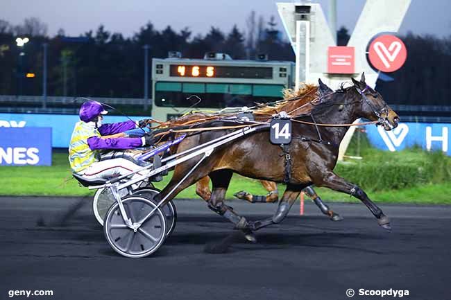
<path id="1" fill-rule="evenodd" d="M 352 87 L 339 89 L 333 94 L 309 102 L 308 112 L 293 115 L 291 118 L 293 141 L 285 149 L 273 145 L 266 130 L 248 134 L 214 150 L 208 157 L 196 157 L 176 166 L 171 181 L 157 197 L 169 202 L 180 191 L 209 176 L 213 186 L 209 201 L 210 209 L 230 220 L 235 224 L 235 228 L 244 231 L 248 240 L 255 241 L 253 231 L 281 222 L 300 191 L 314 184 L 357 197 L 377 218 L 377 223 L 390 230 L 389 218 L 368 195 L 356 184 L 347 182 L 333 172 L 337 164 L 339 144 L 353 121 L 357 118 L 368 118 L 382 125 L 385 130 L 396 127 L 399 121 L 398 115 L 385 103 L 382 96 L 366 85 L 364 74 L 360 81 L 352 79 L 352 82 L 354 84 Z M 271 109 L 293 114 L 300 107 L 303 107 L 300 103 L 291 101 Z M 228 124 L 226 121 L 213 121 L 210 125 Z M 227 132 L 230 130 L 200 131 L 185 138 L 178 145 L 177 152 L 207 143 Z M 281 157 L 287 153 L 293 157 L 291 172 L 288 174 L 287 188 L 278 210 L 272 218 L 248 222 L 246 218 L 224 204 L 232 173 L 272 182 L 284 182 L 287 170 Z M 198 168 L 195 168 L 196 166 Z"/>

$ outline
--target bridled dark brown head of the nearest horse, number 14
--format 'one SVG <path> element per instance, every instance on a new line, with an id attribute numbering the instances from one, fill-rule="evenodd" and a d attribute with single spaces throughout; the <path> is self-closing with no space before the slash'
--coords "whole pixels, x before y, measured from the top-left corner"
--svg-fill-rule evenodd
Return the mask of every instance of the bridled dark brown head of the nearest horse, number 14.
<path id="1" fill-rule="evenodd" d="M 360 81 L 351 79 L 360 98 L 357 114 L 371 121 L 379 121 L 377 125 L 384 126 L 384 130 L 397 127 L 400 117 L 385 103 L 381 94 L 366 85 L 365 74 L 361 74 Z"/>

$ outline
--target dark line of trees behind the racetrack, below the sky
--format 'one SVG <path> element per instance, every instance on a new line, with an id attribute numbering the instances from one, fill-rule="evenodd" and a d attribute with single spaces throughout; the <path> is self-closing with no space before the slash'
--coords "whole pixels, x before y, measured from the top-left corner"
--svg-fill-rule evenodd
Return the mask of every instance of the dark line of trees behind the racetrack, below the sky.
<path id="1" fill-rule="evenodd" d="M 25 36 L 29 42 L 17 46 L 15 39 Z M 348 39 L 348 30 L 340 28 L 338 44 L 346 45 Z M 388 103 L 451 105 L 451 35 L 409 33 L 401 39 L 408 49 L 406 64 L 389 74 L 393 82 L 377 82 L 377 89 Z M 219 51 L 237 60 L 253 60 L 258 53 L 266 53 L 270 60 L 294 61 L 275 18 L 265 20 L 255 12 L 248 15 L 245 30 L 235 25 L 226 33 L 215 26 L 205 35 L 171 26 L 158 30 L 149 21 L 131 37 L 101 25 L 76 39 L 67 38 L 63 29 L 49 37 L 46 24 L 37 18 L 19 25 L 0 19 L 0 94 L 42 95 L 44 43 L 48 44 L 49 96 L 143 97 L 144 45 L 150 46 L 149 67 L 152 58 L 166 58 L 169 51 L 180 51 L 184 58 Z M 26 73 L 35 77 L 26 78 Z"/>

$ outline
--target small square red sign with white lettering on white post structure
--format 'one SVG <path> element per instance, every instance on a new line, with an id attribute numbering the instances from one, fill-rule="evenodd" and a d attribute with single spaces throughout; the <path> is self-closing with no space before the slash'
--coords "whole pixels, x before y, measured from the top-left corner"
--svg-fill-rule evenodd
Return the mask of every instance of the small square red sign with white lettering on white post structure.
<path id="1" fill-rule="evenodd" d="M 327 49 L 327 73 L 354 73 L 354 47 L 329 47 Z"/>

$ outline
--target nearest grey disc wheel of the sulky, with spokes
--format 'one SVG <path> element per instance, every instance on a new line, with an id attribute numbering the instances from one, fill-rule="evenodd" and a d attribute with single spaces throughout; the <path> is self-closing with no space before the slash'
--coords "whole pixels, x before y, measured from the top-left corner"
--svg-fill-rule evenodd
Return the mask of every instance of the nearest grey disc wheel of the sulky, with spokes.
<path id="1" fill-rule="evenodd" d="M 125 197 L 122 203 L 132 222 L 142 220 L 157 207 L 151 200 L 137 195 Z M 135 232 L 126 225 L 119 205 L 114 203 L 105 215 L 103 232 L 115 252 L 130 258 L 140 258 L 153 254 L 163 244 L 166 218 L 162 210 L 157 208 Z"/>

